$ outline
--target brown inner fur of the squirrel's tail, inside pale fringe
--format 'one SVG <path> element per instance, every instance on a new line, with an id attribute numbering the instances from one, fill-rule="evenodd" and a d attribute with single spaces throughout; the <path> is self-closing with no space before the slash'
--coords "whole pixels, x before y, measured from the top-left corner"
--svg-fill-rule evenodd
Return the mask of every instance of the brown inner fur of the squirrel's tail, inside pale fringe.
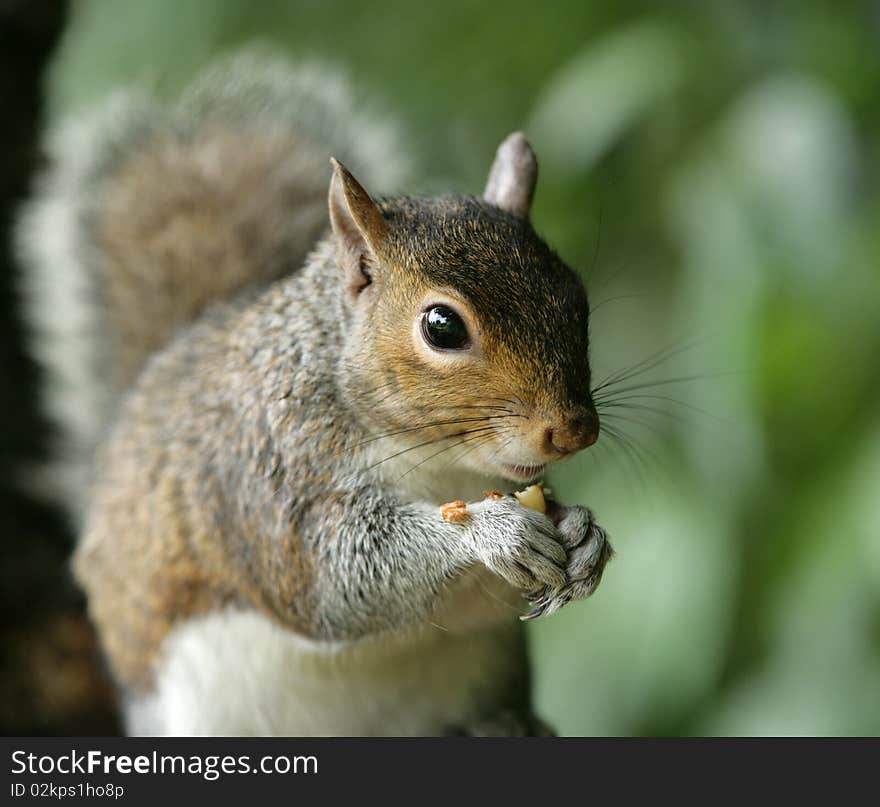
<path id="1" fill-rule="evenodd" d="M 163 131 L 111 174 L 92 226 L 119 389 L 206 305 L 299 268 L 326 227 L 326 181 L 279 166 L 315 150 L 247 127 Z"/>

